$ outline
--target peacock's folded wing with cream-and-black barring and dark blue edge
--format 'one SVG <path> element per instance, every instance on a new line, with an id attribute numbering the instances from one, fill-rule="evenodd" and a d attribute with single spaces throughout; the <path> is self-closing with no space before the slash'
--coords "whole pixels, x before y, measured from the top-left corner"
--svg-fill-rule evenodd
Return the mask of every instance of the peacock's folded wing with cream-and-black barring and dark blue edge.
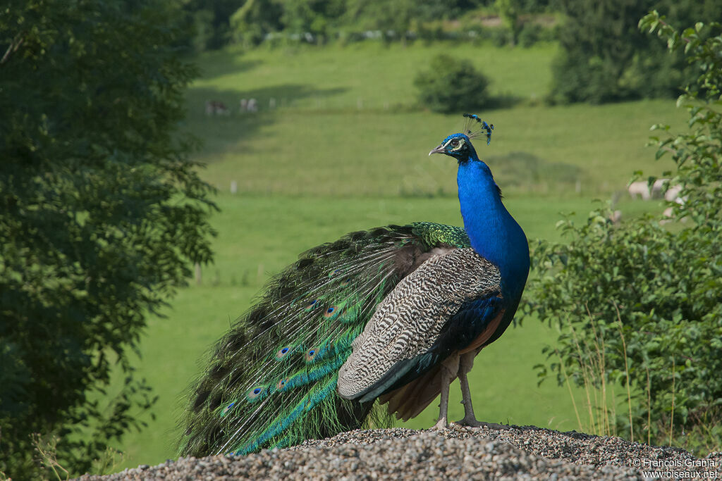
<path id="1" fill-rule="evenodd" d="M 471 248 L 426 260 L 386 296 L 353 342 L 339 369 L 339 395 L 367 402 L 404 389 L 397 404 L 419 396 L 428 404 L 438 389 L 421 393 L 433 384 L 436 366 L 454 351 L 478 347 L 503 312 L 500 283 L 496 266 Z"/>

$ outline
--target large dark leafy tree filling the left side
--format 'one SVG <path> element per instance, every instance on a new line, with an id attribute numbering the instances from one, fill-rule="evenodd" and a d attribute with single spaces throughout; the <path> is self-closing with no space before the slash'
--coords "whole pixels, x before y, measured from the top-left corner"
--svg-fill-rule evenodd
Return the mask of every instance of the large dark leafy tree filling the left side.
<path id="1" fill-rule="evenodd" d="M 212 187 L 177 133 L 196 69 L 165 1 L 2 8 L 0 472 L 41 475 L 38 433 L 82 474 L 154 402 L 129 360 L 146 314 L 212 257 Z"/>

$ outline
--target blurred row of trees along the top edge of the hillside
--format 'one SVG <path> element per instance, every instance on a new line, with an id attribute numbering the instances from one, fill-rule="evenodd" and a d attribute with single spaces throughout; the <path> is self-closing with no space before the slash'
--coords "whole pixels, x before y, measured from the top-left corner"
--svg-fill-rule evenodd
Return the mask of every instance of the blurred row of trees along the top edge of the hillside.
<path id="1" fill-rule="evenodd" d="M 504 0 L 505 14 L 513 16 L 514 37 L 521 32 L 521 12 L 541 12 L 548 0 Z M 290 37 L 312 35 L 323 43 L 338 35 L 344 40 L 373 30 L 384 40 L 434 37 L 442 20 L 458 21 L 475 9 L 495 8 L 495 0 L 186 0 L 188 22 L 195 27 L 193 45 L 199 49 L 219 48 L 227 43 L 258 45 L 266 35 L 283 33 Z M 433 24 L 429 29 L 425 24 Z M 498 30 L 498 29 L 497 29 Z M 359 37 L 362 37 L 360 35 Z"/>

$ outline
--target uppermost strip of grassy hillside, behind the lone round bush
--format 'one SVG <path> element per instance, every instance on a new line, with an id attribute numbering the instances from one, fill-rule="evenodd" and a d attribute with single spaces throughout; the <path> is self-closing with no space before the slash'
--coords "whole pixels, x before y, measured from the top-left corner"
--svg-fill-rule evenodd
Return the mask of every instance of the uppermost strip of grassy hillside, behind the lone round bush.
<path id="1" fill-rule="evenodd" d="M 347 111 L 357 109 L 359 100 L 363 110 L 406 109 L 415 102 L 410 79 L 427 68 L 432 56 L 448 53 L 469 58 L 489 76 L 492 93 L 538 100 L 548 90 L 555 51 L 551 44 L 514 49 L 469 43 L 223 50 L 201 58 L 204 78 L 189 98 L 191 107 L 201 106 L 205 94 L 212 93 L 235 107 L 240 98 L 256 98 L 267 107 L 274 97 L 279 107 L 292 110 Z"/>

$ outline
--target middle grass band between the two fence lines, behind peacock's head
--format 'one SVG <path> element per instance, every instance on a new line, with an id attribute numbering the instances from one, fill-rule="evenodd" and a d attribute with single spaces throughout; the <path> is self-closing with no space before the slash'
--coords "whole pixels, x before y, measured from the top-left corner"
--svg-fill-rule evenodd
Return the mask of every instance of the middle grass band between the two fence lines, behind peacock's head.
<path id="1" fill-rule="evenodd" d="M 671 167 L 655 163 L 645 144 L 649 126 L 675 113 L 662 101 L 492 110 L 483 112 L 496 125 L 492 144 L 477 142 L 477 149 L 497 175 L 514 166 L 494 159 L 515 152 L 541 161 L 539 180 L 515 187 L 520 193 L 567 195 L 575 182 L 560 185 L 549 170 L 561 164 L 583 195 L 608 196 L 625 190 L 633 169 L 658 174 Z M 458 115 L 292 111 L 196 123 L 194 131 L 212 141 L 200 155 L 204 175 L 224 190 L 236 180 L 240 191 L 254 194 L 456 195 L 450 160 L 427 154 L 461 129 Z"/>

